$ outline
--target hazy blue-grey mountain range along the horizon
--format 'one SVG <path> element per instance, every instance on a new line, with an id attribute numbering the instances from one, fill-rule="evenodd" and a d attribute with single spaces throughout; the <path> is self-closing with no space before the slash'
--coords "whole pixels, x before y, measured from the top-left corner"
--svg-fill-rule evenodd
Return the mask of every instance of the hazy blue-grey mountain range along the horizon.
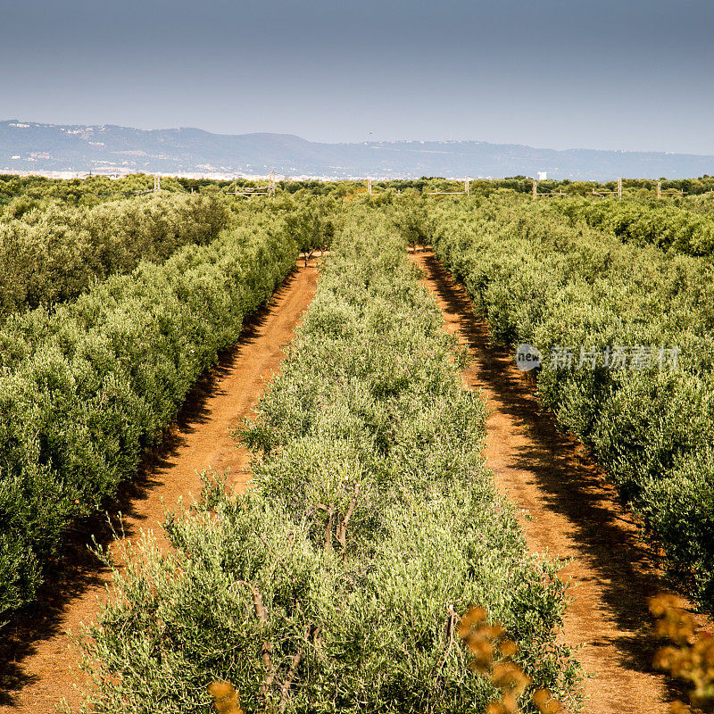
<path id="1" fill-rule="evenodd" d="M 211 134 L 0 121 L 0 172 L 94 172 L 293 178 L 685 179 L 714 175 L 714 156 L 661 152 L 554 151 L 482 141 L 321 144 L 290 134 Z"/>

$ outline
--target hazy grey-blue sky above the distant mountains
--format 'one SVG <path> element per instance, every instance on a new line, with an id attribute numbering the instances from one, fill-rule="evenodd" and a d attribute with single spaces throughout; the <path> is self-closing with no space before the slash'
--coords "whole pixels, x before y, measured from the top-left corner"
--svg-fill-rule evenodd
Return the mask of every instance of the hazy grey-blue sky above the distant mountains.
<path id="1" fill-rule="evenodd" d="M 712 0 L 0 0 L 0 119 L 714 154 L 713 37 Z"/>

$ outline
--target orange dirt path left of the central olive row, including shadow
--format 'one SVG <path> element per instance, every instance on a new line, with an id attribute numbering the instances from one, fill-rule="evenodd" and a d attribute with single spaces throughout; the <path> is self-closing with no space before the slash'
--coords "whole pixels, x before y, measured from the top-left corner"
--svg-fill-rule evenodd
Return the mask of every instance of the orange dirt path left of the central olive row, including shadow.
<path id="1" fill-rule="evenodd" d="M 246 325 L 237 345 L 189 395 L 167 443 L 120 494 L 116 510 L 124 514 L 127 537 L 144 529 L 154 530 L 161 540 L 164 504 L 172 508 L 179 496 L 200 493 L 197 470 L 230 469 L 228 482 L 245 487 L 247 455 L 236 448 L 230 430 L 251 414 L 265 381 L 278 369 L 282 346 L 292 338 L 316 282 L 314 265 L 286 278 L 274 300 Z M 101 530 L 101 524 L 92 526 Z M 109 542 L 106 530 L 100 536 Z M 9 652 L 0 651 L 0 714 L 52 714 L 62 697 L 72 708 L 81 701 L 83 675 L 65 633 L 78 632 L 80 622 L 94 619 L 109 577 L 87 553 L 86 543 L 87 533 L 78 534 L 62 571 L 50 578 L 37 606 L 9 627 Z"/>

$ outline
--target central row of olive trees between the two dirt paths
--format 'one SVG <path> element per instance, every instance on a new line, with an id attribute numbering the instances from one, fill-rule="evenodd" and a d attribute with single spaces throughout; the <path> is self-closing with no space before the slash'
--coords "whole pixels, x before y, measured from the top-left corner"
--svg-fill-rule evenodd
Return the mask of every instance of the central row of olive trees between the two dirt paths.
<path id="1" fill-rule="evenodd" d="M 208 712 L 226 679 L 248 711 L 476 714 L 495 689 L 452 615 L 473 602 L 574 704 L 563 585 L 495 493 L 436 303 L 380 212 L 345 224 L 245 432 L 252 486 L 208 478 L 167 523 L 175 552 L 145 543 L 116 574 L 85 641 L 91 710 Z"/>

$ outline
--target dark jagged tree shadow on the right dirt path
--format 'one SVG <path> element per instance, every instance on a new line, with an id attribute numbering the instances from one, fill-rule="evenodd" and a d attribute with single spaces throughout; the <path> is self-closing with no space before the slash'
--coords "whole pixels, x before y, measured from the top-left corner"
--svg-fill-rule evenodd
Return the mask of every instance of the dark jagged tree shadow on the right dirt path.
<path id="1" fill-rule="evenodd" d="M 654 674 L 652 655 L 658 644 L 650 634 L 647 599 L 665 586 L 656 572 L 652 549 L 638 538 L 634 521 L 623 513 L 614 488 L 604 483 L 602 470 L 583 445 L 560 432 L 551 413 L 541 411 L 535 379 L 517 372 L 511 353 L 491 343 L 488 325 L 474 316 L 466 290 L 432 253 L 420 257 L 437 296 L 461 320 L 461 334 L 474 353 L 482 386 L 497 395 L 499 411 L 519 422 L 530 437 L 511 453 L 510 468 L 535 474 L 546 497 L 545 507 L 565 516 L 574 528 L 577 556 L 571 568 L 577 569 L 581 562 L 597 573 L 608 614 L 622 630 L 636 634 L 613 634 L 607 642 L 617 648 L 619 665 Z M 578 618 L 589 616 L 588 611 L 578 613 Z M 591 617 L 597 618 L 597 613 Z M 590 642 L 594 646 L 605 643 Z M 682 697 L 678 685 L 669 689 L 674 698 Z"/>

